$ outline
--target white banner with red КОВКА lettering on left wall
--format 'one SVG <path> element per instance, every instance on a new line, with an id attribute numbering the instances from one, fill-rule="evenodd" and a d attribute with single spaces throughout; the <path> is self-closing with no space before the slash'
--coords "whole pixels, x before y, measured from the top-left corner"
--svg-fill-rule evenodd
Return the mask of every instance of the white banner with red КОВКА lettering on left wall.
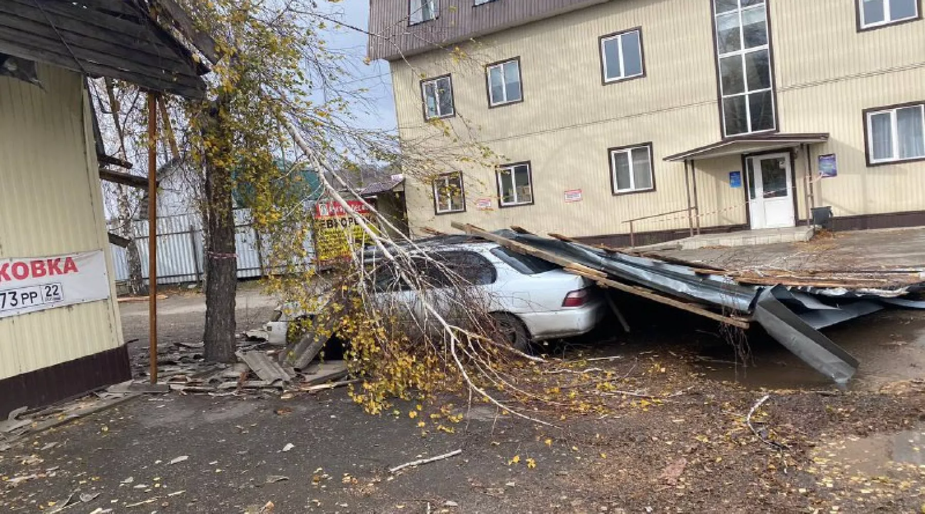
<path id="1" fill-rule="evenodd" d="M 0 318 L 109 298 L 105 253 L 0 259 Z"/>

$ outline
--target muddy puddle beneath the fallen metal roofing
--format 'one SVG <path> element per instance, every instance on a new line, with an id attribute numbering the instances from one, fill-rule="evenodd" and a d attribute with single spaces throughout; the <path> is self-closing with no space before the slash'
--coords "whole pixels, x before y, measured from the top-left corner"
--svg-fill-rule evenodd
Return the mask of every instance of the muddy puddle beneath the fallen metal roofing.
<path id="1" fill-rule="evenodd" d="M 852 390 L 876 390 L 903 380 L 925 379 L 925 312 L 886 310 L 823 330 L 835 344 L 860 361 L 847 385 Z M 707 378 L 769 389 L 834 389 L 825 376 L 773 341 L 752 345 L 752 363 L 734 364 L 733 350 L 724 343 L 701 352 L 698 367 Z"/>

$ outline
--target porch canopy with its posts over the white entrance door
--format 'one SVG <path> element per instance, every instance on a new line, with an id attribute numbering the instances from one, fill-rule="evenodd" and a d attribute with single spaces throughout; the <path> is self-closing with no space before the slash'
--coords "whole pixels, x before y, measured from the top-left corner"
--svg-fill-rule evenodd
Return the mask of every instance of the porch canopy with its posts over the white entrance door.
<path id="1" fill-rule="evenodd" d="M 798 146 L 808 146 L 810 144 L 826 141 L 829 141 L 829 134 L 823 132 L 807 134 L 758 134 L 717 141 L 706 146 L 700 146 L 686 152 L 675 153 L 665 157 L 664 160 L 667 162 L 683 162 L 685 164 L 685 190 L 687 192 L 687 209 L 685 210 L 687 211 L 687 217 L 690 223 L 691 236 L 694 236 L 695 233 L 700 233 L 700 202 L 697 198 L 697 161 L 716 159 L 718 157 L 730 155 L 748 155 L 750 153 L 768 153 L 775 150 L 789 150 Z M 807 159 L 807 177 L 810 175 L 810 165 Z M 693 196 L 691 191 L 692 185 Z M 812 198 L 812 185 L 811 182 L 808 182 L 807 210 L 809 209 Z M 807 219 L 809 219 L 808 213 Z"/>

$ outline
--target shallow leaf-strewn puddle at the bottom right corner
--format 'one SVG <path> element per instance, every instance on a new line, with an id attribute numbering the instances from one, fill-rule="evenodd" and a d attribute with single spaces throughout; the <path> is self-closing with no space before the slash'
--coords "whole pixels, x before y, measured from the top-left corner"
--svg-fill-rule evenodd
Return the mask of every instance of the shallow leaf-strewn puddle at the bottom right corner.
<path id="1" fill-rule="evenodd" d="M 869 476 L 882 475 L 893 469 L 895 464 L 923 467 L 925 432 L 850 437 L 817 448 L 813 460 L 822 465 L 840 465 Z"/>

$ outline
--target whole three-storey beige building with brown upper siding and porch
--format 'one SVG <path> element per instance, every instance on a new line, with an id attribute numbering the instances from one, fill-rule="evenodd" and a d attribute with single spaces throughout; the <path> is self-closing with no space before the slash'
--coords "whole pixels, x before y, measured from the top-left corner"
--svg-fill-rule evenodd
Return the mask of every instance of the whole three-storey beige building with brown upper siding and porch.
<path id="1" fill-rule="evenodd" d="M 473 4 L 373 5 L 402 140 L 494 153 L 408 174 L 415 233 L 925 225 L 919 0 Z"/>

